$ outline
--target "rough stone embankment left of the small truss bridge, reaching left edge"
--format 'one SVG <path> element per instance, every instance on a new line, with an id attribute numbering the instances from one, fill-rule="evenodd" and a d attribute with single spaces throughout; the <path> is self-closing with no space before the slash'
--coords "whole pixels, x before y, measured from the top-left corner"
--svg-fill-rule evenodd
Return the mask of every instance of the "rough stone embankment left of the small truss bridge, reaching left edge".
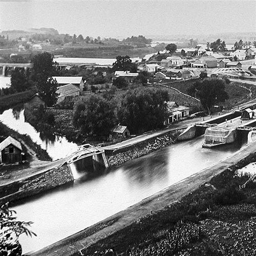
<path id="1" fill-rule="evenodd" d="M 74 181 L 67 164 L 0 186 L 0 205 Z"/>

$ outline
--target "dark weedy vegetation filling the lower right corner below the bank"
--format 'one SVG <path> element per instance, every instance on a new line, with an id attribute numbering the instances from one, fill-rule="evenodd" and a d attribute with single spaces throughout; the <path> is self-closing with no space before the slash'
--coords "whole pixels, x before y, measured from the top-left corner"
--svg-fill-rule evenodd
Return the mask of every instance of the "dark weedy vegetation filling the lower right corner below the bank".
<path id="1" fill-rule="evenodd" d="M 255 255 L 256 183 L 237 169 L 252 154 L 181 201 L 84 250 L 84 255 Z M 111 254 L 110 254 L 111 253 Z"/>

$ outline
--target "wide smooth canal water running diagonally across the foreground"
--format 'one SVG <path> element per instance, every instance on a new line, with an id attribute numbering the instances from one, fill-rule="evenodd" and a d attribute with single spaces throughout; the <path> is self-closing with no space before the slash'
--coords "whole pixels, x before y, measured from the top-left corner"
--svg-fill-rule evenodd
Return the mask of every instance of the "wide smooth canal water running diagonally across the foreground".
<path id="1" fill-rule="evenodd" d="M 40 194 L 13 206 L 33 221 L 37 237 L 20 237 L 24 252 L 36 251 L 91 226 L 157 191 L 224 160 L 238 145 L 202 148 L 204 138 L 180 142 L 98 176 Z M 76 168 L 75 165 L 72 168 Z M 85 173 L 88 175 L 88 173 Z"/>

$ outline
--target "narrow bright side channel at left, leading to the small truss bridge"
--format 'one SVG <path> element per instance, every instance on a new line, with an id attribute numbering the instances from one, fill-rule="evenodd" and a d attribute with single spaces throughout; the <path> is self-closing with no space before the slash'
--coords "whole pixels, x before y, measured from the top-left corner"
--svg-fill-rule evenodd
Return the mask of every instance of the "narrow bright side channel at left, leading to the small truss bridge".
<path id="1" fill-rule="evenodd" d="M 20 134 L 28 134 L 53 160 L 66 157 L 77 150 L 77 144 L 69 142 L 65 137 L 47 137 L 38 133 L 32 125 L 25 122 L 23 106 L 4 111 L 0 114 L 0 121 Z"/>

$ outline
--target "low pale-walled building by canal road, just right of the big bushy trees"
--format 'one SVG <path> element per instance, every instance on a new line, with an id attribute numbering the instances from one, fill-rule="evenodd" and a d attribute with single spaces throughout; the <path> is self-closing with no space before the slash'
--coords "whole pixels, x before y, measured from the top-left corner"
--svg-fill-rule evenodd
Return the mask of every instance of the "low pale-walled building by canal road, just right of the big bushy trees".
<path id="1" fill-rule="evenodd" d="M 175 121 L 182 120 L 184 117 L 189 116 L 189 108 L 186 106 L 178 105 L 175 101 L 167 102 L 168 118 L 165 125 L 169 125 Z"/>

